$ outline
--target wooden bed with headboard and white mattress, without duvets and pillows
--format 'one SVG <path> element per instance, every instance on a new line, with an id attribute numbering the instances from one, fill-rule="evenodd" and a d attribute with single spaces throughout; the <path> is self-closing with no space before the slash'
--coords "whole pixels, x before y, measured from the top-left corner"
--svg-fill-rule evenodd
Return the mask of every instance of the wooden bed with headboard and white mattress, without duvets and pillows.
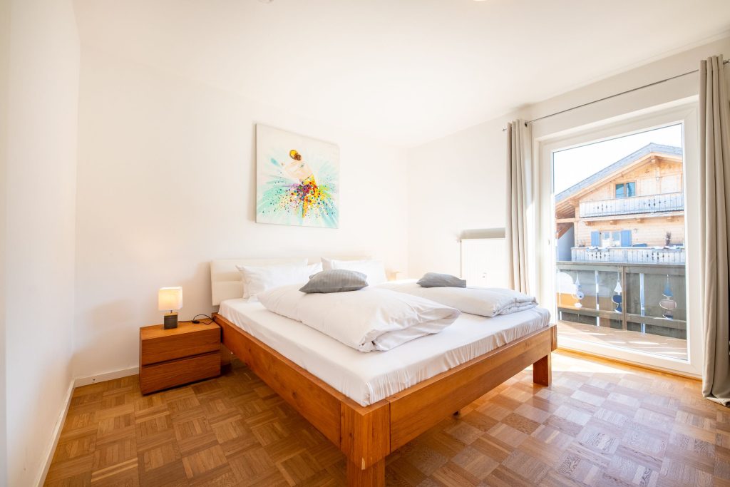
<path id="1" fill-rule="evenodd" d="M 242 296 L 237 265 L 212 261 L 223 345 L 347 456 L 347 482 L 382 486 L 385 456 L 521 370 L 550 385 L 556 329 L 547 310 L 462 314 L 439 334 L 361 353 Z"/>

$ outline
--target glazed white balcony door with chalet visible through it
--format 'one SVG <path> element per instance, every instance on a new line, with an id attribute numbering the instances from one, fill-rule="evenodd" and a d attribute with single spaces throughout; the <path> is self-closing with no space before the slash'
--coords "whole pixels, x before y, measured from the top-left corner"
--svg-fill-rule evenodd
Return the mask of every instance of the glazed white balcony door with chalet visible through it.
<path id="1" fill-rule="evenodd" d="M 553 304 L 562 347 L 698 375 L 699 294 L 688 293 L 697 282 L 694 113 L 542 145 L 552 181 L 541 282 L 552 296 L 541 297 Z"/>

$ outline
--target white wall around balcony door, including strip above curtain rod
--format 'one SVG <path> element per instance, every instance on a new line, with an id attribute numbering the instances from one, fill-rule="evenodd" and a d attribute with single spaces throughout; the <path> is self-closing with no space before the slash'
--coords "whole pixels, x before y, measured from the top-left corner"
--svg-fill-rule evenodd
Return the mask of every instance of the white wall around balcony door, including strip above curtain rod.
<path id="1" fill-rule="evenodd" d="M 720 53 L 730 57 L 730 38 L 671 55 L 411 149 L 409 274 L 441 271 L 458 275 L 456 239 L 461 231 L 504 227 L 507 142 L 502 129 L 508 120 L 518 116 L 531 120 L 692 71 L 699 67 L 700 59 Z M 549 75 L 537 72 L 535 78 Z M 684 99 L 696 95 L 698 85 L 698 74 L 691 74 L 540 120 L 532 124 L 532 134 L 535 138 L 552 136 L 626 112 Z"/>

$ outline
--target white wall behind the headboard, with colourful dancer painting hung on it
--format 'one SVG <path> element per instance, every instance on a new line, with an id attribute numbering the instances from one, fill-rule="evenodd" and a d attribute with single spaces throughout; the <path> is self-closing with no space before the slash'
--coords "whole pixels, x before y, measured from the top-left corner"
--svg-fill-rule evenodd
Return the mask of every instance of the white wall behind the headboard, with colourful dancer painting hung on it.
<path id="1" fill-rule="evenodd" d="M 369 253 L 407 266 L 403 150 L 82 46 L 74 373 L 137 367 L 157 290 L 210 313 L 215 258 Z M 255 218 L 254 124 L 340 147 L 340 228 Z"/>

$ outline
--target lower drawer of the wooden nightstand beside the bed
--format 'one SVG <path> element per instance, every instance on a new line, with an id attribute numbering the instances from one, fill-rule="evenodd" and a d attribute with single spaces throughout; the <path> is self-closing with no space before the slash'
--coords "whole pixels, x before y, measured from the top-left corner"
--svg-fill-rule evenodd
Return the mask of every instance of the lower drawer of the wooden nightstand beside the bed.
<path id="1" fill-rule="evenodd" d="M 195 382 L 220 375 L 220 352 L 180 358 L 162 364 L 145 365 L 139 369 L 142 394 Z"/>

